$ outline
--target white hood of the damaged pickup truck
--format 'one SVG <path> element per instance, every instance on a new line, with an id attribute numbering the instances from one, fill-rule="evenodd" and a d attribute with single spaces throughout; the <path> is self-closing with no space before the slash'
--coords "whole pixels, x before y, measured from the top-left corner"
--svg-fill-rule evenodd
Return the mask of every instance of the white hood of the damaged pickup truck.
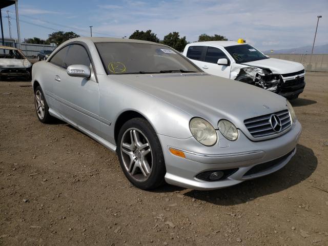
<path id="1" fill-rule="evenodd" d="M 268 58 L 263 60 L 250 61 L 249 63 L 243 63 L 252 67 L 268 68 L 273 73 L 284 74 L 298 72 L 304 69 L 303 65 L 296 63 L 295 61 L 282 60 L 276 58 Z"/>

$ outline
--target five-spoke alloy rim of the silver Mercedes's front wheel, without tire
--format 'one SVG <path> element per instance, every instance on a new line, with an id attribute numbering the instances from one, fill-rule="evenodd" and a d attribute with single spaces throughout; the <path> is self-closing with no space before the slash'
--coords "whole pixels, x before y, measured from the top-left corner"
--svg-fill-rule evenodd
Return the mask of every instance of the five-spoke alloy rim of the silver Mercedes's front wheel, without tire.
<path id="1" fill-rule="evenodd" d="M 145 181 L 152 172 L 153 153 L 149 141 L 139 129 L 127 129 L 121 138 L 121 157 L 129 175 Z"/>

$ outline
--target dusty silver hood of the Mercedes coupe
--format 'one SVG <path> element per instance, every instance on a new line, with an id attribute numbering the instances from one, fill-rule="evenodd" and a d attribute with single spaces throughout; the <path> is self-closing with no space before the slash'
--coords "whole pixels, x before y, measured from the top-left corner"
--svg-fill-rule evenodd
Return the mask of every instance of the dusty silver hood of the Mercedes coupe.
<path id="1" fill-rule="evenodd" d="M 191 117 L 207 119 L 216 129 L 222 118 L 242 128 L 244 119 L 286 109 L 286 99 L 273 92 L 206 73 L 109 76 L 164 100 Z"/>

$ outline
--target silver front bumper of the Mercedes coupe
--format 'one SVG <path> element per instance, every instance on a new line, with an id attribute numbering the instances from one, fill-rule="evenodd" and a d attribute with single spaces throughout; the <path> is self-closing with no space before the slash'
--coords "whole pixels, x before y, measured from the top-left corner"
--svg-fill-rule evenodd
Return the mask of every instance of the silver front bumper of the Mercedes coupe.
<path id="1" fill-rule="evenodd" d="M 258 142 L 249 140 L 241 131 L 239 131 L 238 140 L 233 142 L 226 140 L 218 132 L 219 141 L 212 147 L 202 146 L 193 137 L 176 139 L 158 135 L 166 162 L 165 180 L 179 187 L 214 190 L 268 175 L 290 161 L 296 153 L 300 133 L 301 125 L 298 121 L 284 135 Z M 169 147 L 182 150 L 186 158 L 171 154 Z M 268 162 L 272 165 L 268 165 Z M 264 167 L 254 168 L 259 164 Z M 204 181 L 196 178 L 197 174 L 205 171 L 226 169 L 238 170 L 219 181 Z"/>

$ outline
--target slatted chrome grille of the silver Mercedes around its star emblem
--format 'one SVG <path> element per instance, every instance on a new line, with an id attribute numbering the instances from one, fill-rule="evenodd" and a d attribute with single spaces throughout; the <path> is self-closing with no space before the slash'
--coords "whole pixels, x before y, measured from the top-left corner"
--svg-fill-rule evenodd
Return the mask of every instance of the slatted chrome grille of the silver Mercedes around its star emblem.
<path id="1" fill-rule="evenodd" d="M 281 130 L 279 133 L 292 126 L 291 117 L 287 109 L 273 114 L 277 115 L 281 121 Z M 266 137 L 279 134 L 272 129 L 270 124 L 270 117 L 273 114 L 266 114 L 250 119 L 245 119 L 244 124 L 253 137 Z"/>

